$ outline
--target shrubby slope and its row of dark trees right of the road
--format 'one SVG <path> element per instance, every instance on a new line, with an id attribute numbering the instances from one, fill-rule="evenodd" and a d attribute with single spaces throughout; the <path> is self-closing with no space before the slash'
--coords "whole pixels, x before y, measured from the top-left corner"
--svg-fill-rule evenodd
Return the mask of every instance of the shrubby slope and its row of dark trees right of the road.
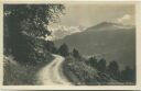
<path id="1" fill-rule="evenodd" d="M 110 61 L 107 66 L 105 58 L 98 60 L 96 56 L 88 59 L 82 56 L 80 58 L 68 56 L 63 67 L 65 75 L 75 84 L 134 84 L 135 82 L 134 70 L 130 67 L 120 71 L 117 61 Z"/>

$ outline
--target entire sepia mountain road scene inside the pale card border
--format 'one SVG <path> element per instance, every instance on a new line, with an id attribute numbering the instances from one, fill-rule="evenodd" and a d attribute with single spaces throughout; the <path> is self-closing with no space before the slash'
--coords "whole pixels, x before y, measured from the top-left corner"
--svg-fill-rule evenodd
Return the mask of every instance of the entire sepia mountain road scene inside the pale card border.
<path id="1" fill-rule="evenodd" d="M 135 4 L 3 4 L 3 86 L 135 86 Z"/>

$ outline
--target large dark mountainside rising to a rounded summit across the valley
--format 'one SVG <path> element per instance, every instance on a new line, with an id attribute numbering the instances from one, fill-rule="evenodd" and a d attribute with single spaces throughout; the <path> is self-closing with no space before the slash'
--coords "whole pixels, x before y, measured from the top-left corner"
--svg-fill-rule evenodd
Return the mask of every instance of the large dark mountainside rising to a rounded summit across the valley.
<path id="1" fill-rule="evenodd" d="M 84 56 L 102 56 L 107 61 L 116 60 L 122 69 L 134 67 L 135 27 L 102 22 L 54 42 L 56 46 L 66 43 L 70 49 L 77 48 Z"/>

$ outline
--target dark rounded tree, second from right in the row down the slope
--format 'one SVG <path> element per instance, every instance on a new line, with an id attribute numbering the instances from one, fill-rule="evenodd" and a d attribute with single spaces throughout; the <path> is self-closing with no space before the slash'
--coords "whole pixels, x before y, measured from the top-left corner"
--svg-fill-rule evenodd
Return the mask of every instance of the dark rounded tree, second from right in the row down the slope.
<path id="1" fill-rule="evenodd" d="M 119 65 L 117 61 L 110 61 L 108 66 L 108 73 L 110 75 L 111 78 L 119 80 L 120 77 L 120 71 L 119 71 Z"/>

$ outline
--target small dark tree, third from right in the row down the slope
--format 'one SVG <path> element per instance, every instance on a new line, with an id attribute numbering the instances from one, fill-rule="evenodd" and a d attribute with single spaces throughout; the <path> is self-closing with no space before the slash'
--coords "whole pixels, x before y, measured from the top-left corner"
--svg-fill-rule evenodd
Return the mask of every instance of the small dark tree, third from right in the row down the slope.
<path id="1" fill-rule="evenodd" d="M 104 58 L 98 61 L 97 69 L 100 72 L 106 72 L 106 60 Z"/>

